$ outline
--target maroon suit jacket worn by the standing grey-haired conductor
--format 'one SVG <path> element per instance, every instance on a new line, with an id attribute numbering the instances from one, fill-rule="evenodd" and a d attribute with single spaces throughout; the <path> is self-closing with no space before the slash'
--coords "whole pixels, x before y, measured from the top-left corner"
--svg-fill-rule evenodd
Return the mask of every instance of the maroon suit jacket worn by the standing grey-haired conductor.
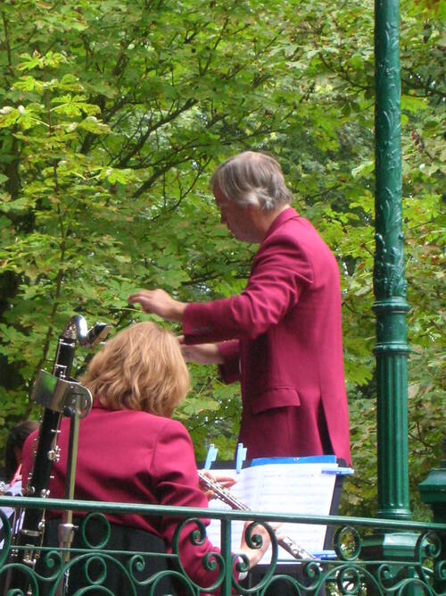
<path id="1" fill-rule="evenodd" d="M 270 226 L 245 290 L 186 306 L 183 332 L 189 344 L 224 340 L 220 371 L 242 385 L 239 441 L 248 458 L 335 454 L 351 462 L 339 270 L 293 208 Z"/>

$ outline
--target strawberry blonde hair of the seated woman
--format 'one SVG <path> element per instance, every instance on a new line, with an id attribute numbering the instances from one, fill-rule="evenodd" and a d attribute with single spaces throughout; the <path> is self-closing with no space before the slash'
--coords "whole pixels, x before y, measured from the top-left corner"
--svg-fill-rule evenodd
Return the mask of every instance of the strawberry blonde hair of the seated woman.
<path id="1" fill-rule="evenodd" d="M 189 390 L 189 372 L 176 337 L 155 323 L 136 323 L 105 343 L 82 384 L 112 410 L 172 416 Z"/>

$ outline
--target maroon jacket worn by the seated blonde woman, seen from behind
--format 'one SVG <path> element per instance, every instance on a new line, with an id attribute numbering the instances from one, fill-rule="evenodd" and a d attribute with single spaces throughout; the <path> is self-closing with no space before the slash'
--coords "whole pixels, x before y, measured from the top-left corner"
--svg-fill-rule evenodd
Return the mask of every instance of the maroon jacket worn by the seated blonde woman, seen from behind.
<path id="1" fill-rule="evenodd" d="M 61 459 L 54 463 L 50 495 L 62 499 L 70 421 L 62 420 L 58 445 Z M 32 447 L 37 433 L 23 448 L 23 478 L 33 466 Z M 186 428 L 177 421 L 130 410 L 111 411 L 95 405 L 80 420 L 75 499 L 207 508 L 198 487 L 194 448 Z M 111 522 L 136 527 L 161 537 L 168 552 L 179 522 L 167 516 L 108 516 Z M 209 520 L 203 520 L 205 524 Z M 217 551 L 206 540 L 193 546 L 188 538 L 196 525 L 181 534 L 181 562 L 194 582 L 209 586 L 217 574 L 202 568 L 202 557 Z"/>

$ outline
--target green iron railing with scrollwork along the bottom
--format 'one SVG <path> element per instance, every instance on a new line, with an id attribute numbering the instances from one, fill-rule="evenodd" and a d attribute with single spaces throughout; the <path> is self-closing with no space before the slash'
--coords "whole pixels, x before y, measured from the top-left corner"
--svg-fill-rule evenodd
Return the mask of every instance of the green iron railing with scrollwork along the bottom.
<path id="1" fill-rule="evenodd" d="M 29 508 L 42 508 L 42 499 L 2 497 L 2 505 Z M 95 544 L 86 544 L 83 548 L 60 549 L 58 545 L 41 547 L 38 565 L 35 568 L 8 562 L 8 553 L 12 548 L 10 525 L 2 515 L 6 536 L 3 550 L 0 552 L 0 581 L 4 579 L 8 570 L 19 567 L 21 572 L 29 575 L 29 594 L 38 596 L 60 595 L 67 570 L 70 570 L 70 581 L 76 579 L 76 596 L 81 594 L 108 594 L 109 596 L 128 596 L 144 593 L 147 596 L 167 596 L 177 592 L 166 592 L 161 589 L 161 582 L 166 577 L 176 582 L 180 593 L 186 595 L 199 594 L 257 594 L 281 596 L 288 594 L 339 594 L 340 596 L 354 596 L 359 594 L 404 595 L 424 593 L 432 596 L 446 594 L 446 560 L 442 555 L 442 541 L 446 536 L 446 524 L 428 524 L 389 519 L 368 519 L 361 517 L 343 516 L 297 516 L 277 513 L 254 513 L 252 511 L 217 511 L 198 508 L 172 508 L 151 505 L 131 505 L 123 503 L 98 503 L 93 501 L 45 499 L 45 510 L 70 510 L 73 515 L 82 512 L 87 517 L 79 523 L 78 533 L 87 534 L 87 527 L 92 519 L 103 520 L 103 533 Z M 183 519 L 178 527 L 187 521 L 194 521 L 194 532 L 191 533 L 192 544 L 198 544 L 203 539 L 205 526 L 203 518 L 219 519 L 221 523 L 221 537 L 223 548 L 217 558 L 203 560 L 205 568 L 216 568 L 218 577 L 211 587 L 200 587 L 186 575 L 178 557 L 178 545 L 172 554 L 147 552 L 145 550 L 120 551 L 108 548 L 109 526 L 104 514 L 115 515 L 143 515 L 143 516 L 175 516 Z M 233 569 L 236 562 L 230 551 L 231 525 L 235 521 L 255 520 L 260 523 L 284 522 L 292 524 L 330 525 L 335 528 L 333 538 L 333 558 L 325 560 L 307 560 L 300 564 L 284 566 L 277 556 L 277 542 L 273 535 L 274 548 L 272 558 L 256 569 L 261 569 L 261 575 L 250 573 L 253 580 L 237 583 Z M 397 557 L 385 558 L 376 556 L 363 557 L 363 544 L 368 537 L 379 531 L 392 533 L 397 537 Z M 255 531 L 254 531 L 255 533 Z M 401 559 L 401 537 L 416 536 L 415 548 L 408 550 L 408 558 Z M 378 551 L 376 551 L 378 553 Z M 68 553 L 68 557 L 67 557 Z M 155 560 L 163 558 L 169 567 L 164 571 L 153 572 Z M 239 560 L 239 559 L 238 559 Z M 263 561 L 262 561 L 263 563 Z M 92 565 L 95 564 L 95 574 Z M 239 560 L 241 570 L 243 561 Z M 112 592 L 107 588 L 107 576 L 114 567 L 121 575 L 120 592 Z M 99 572 L 97 569 L 99 568 Z M 11 592 L 17 596 L 20 592 Z M 72 592 L 70 592 L 72 593 Z"/>

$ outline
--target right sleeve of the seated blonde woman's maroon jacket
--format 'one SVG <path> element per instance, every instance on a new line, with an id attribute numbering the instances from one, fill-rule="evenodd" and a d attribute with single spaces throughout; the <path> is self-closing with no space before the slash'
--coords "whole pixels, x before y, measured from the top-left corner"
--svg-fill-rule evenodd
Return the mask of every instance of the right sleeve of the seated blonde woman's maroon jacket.
<path id="1" fill-rule="evenodd" d="M 194 446 L 186 428 L 169 420 L 157 441 L 151 469 L 148 471 L 161 505 L 172 507 L 208 508 L 208 500 L 199 488 L 198 474 L 194 458 Z M 178 524 L 184 519 L 164 516 L 161 521 L 161 533 L 168 552 L 172 552 L 174 534 Z M 209 519 L 203 519 L 209 525 Z M 178 555 L 186 574 L 203 588 L 214 583 L 219 575 L 219 565 L 215 571 L 207 571 L 203 558 L 219 553 L 206 538 L 202 544 L 194 545 L 190 533 L 197 530 L 197 525 L 189 523 L 183 528 L 178 541 Z"/>

